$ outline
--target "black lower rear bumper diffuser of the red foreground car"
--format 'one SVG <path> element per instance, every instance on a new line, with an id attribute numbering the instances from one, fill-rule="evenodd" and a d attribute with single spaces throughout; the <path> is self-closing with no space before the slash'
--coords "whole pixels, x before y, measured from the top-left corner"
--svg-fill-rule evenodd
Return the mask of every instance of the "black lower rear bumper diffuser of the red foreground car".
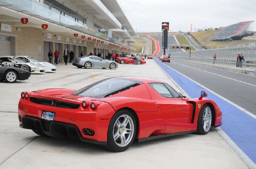
<path id="1" fill-rule="evenodd" d="M 77 139 L 83 142 L 100 145 L 107 144 L 107 141 L 95 141 L 82 138 L 78 127 L 72 124 L 66 124 L 56 121 L 44 121 L 40 118 L 23 116 L 22 124 L 20 124 L 20 127 L 23 129 L 44 132 L 45 135 L 55 138 Z"/>

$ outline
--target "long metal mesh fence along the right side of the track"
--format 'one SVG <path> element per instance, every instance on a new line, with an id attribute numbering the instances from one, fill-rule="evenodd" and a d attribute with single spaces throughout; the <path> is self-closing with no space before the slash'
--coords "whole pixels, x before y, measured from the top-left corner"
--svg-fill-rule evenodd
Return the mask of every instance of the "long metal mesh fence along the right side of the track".
<path id="1" fill-rule="evenodd" d="M 191 55 L 189 55 L 189 51 L 172 52 L 169 50 L 168 53 L 171 56 L 188 58 L 213 58 L 213 55 L 216 54 L 217 59 L 236 59 L 238 54 L 243 54 L 244 59 L 246 59 L 247 62 L 256 62 L 256 45 L 241 45 L 226 48 L 203 49 L 198 51 L 191 51 Z"/>

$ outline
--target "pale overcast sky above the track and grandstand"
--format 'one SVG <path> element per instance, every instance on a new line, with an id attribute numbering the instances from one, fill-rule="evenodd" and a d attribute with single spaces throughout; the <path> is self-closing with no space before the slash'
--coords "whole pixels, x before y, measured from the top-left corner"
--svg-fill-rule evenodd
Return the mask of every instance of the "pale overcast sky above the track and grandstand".
<path id="1" fill-rule="evenodd" d="M 159 32 L 219 28 L 256 20 L 256 0 L 117 0 L 134 31 Z M 254 22 L 250 31 L 256 31 Z"/>

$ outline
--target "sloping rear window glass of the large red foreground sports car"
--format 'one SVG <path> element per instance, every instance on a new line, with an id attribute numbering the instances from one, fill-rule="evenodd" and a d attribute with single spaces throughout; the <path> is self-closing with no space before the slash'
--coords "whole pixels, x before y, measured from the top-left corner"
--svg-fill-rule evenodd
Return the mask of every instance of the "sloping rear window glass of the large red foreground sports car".
<path id="1" fill-rule="evenodd" d="M 105 98 L 141 84 L 143 83 L 132 79 L 104 79 L 80 90 L 77 90 L 72 94 L 93 98 Z"/>

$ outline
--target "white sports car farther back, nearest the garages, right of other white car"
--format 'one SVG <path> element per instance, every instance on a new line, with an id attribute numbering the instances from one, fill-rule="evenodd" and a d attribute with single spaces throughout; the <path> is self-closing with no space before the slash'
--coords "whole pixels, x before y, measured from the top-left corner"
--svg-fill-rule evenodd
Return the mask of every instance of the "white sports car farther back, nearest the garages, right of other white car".
<path id="1" fill-rule="evenodd" d="M 15 56 L 15 58 L 22 59 L 24 62 L 40 65 L 45 69 L 46 73 L 56 72 L 56 70 L 57 70 L 55 65 L 52 65 L 51 63 L 48 63 L 48 62 L 39 62 L 38 60 L 36 60 L 30 56 Z"/>

